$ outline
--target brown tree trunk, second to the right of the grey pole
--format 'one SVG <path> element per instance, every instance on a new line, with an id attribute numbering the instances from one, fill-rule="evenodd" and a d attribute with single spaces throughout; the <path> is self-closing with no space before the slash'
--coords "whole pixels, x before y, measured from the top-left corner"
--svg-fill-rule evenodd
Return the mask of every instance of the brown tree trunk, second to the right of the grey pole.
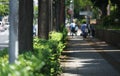
<path id="1" fill-rule="evenodd" d="M 48 39 L 49 35 L 49 2 L 48 0 L 38 0 L 38 36 Z"/>

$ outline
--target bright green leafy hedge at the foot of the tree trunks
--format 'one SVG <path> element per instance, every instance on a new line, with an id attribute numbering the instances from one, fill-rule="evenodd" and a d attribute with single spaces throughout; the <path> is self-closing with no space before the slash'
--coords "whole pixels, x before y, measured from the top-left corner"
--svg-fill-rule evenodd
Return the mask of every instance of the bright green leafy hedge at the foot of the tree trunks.
<path id="1" fill-rule="evenodd" d="M 61 72 L 59 57 L 65 47 L 62 37 L 62 33 L 51 32 L 49 40 L 34 38 L 34 51 L 19 55 L 15 64 L 8 63 L 5 49 L 0 54 L 0 76 L 57 76 Z"/>

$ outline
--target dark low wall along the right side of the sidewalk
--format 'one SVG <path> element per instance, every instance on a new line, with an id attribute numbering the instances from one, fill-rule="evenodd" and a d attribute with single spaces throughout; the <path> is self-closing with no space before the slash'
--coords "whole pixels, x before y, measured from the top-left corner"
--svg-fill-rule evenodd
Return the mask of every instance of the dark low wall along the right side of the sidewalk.
<path id="1" fill-rule="evenodd" d="M 120 48 L 120 30 L 95 29 L 95 36 Z"/>

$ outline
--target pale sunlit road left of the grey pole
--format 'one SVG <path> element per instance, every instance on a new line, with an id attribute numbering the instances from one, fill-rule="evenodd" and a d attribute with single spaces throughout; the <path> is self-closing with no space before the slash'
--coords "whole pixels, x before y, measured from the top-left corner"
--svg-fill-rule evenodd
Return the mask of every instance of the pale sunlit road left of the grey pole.
<path id="1" fill-rule="evenodd" d="M 0 50 L 8 47 L 8 43 L 9 43 L 9 30 L 0 32 Z"/>

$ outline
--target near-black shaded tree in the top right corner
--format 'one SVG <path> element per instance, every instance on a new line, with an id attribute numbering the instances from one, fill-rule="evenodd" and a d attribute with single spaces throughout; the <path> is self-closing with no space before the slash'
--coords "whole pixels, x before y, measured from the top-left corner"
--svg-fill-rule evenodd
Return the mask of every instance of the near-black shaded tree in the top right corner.
<path id="1" fill-rule="evenodd" d="M 97 7 L 100 9 L 100 12 L 102 14 L 102 18 L 107 16 L 108 13 L 110 13 L 110 9 L 107 9 L 108 5 L 110 6 L 110 4 L 112 6 L 117 6 L 117 9 L 115 10 L 116 12 L 114 12 L 114 14 L 117 14 L 117 17 L 120 16 L 120 0 L 91 0 L 92 3 L 94 4 L 94 7 Z"/>

